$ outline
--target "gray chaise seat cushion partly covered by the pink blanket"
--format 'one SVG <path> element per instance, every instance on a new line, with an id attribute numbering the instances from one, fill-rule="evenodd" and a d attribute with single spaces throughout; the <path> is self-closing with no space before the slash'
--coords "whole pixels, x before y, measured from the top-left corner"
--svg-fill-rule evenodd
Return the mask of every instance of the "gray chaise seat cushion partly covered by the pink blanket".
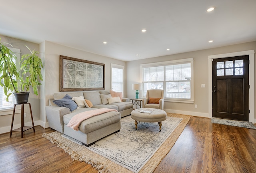
<path id="1" fill-rule="evenodd" d="M 82 109 L 92 109 L 92 108 L 82 108 Z M 76 109 L 81 110 L 81 109 Z M 75 113 L 77 114 L 77 112 Z M 68 124 L 70 119 L 75 115 L 73 113 L 68 113 L 63 116 L 64 124 Z M 90 117 L 84 121 L 82 121 L 79 125 L 79 130 L 83 133 L 90 133 L 92 131 L 95 131 L 97 129 L 101 129 L 103 127 L 106 127 L 110 124 L 116 123 L 120 121 L 121 114 L 116 111 L 110 111 L 106 113 L 102 113 L 101 115 L 96 115 L 94 117 Z"/>

